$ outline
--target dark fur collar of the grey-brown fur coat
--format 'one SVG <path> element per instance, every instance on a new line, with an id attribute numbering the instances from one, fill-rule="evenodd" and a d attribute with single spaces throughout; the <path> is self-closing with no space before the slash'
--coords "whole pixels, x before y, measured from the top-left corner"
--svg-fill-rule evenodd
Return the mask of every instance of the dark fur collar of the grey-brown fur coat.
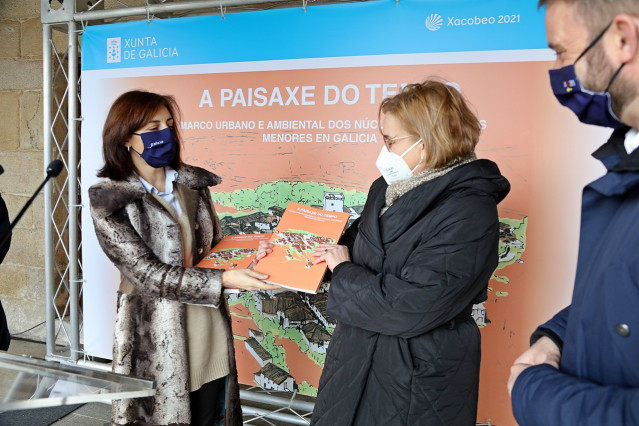
<path id="1" fill-rule="evenodd" d="M 201 189 L 219 184 L 222 179 L 200 167 L 183 164 L 178 170 L 175 182 L 190 189 Z M 131 175 L 125 180 L 114 181 L 101 178 L 89 188 L 91 210 L 96 217 L 107 217 L 126 205 L 147 195 L 142 182 Z"/>

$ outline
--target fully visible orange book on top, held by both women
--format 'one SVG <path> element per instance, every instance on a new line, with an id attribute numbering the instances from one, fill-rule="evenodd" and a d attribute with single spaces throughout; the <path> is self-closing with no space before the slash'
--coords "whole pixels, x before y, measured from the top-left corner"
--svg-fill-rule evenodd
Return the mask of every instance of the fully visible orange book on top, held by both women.
<path id="1" fill-rule="evenodd" d="M 273 252 L 260 260 L 255 270 L 269 274 L 269 283 L 317 293 L 327 266 L 324 262 L 313 265 L 311 253 L 318 244 L 335 244 L 349 216 L 289 203 L 270 238 Z"/>

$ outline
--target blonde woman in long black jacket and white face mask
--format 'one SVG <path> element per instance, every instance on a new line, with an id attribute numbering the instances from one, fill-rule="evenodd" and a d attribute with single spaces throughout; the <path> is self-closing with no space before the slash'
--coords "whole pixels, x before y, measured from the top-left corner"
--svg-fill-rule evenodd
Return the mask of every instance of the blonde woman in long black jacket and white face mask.
<path id="1" fill-rule="evenodd" d="M 473 304 L 497 266 L 497 203 L 510 185 L 478 160 L 480 124 L 454 87 L 406 86 L 380 105 L 385 142 L 361 217 L 316 249 L 338 325 L 315 425 L 474 425 Z"/>

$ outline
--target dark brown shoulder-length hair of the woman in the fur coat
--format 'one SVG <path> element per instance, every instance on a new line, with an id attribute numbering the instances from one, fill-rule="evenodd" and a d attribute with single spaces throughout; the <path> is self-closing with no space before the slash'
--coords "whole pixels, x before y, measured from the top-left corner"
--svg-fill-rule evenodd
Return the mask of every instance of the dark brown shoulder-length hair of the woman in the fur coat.
<path id="1" fill-rule="evenodd" d="M 175 98 L 170 95 L 132 90 L 123 93 L 113 102 L 104 122 L 102 130 L 104 167 L 98 171 L 98 177 L 124 180 L 133 174 L 131 154 L 124 144 L 131 138 L 131 134 L 145 126 L 161 107 L 166 107 L 173 117 L 173 130 L 177 142 L 175 158 L 170 166 L 175 170 L 180 168 L 182 164 L 182 136 L 179 128 L 181 111 Z"/>

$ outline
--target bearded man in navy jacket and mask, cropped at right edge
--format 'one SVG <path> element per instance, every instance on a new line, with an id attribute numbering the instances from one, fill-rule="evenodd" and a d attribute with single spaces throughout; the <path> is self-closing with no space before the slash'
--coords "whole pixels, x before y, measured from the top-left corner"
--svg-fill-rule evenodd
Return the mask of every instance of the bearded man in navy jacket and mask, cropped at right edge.
<path id="1" fill-rule="evenodd" d="M 557 99 L 616 130 L 583 191 L 572 303 L 511 367 L 513 412 L 522 426 L 639 425 L 639 2 L 543 5 Z"/>

